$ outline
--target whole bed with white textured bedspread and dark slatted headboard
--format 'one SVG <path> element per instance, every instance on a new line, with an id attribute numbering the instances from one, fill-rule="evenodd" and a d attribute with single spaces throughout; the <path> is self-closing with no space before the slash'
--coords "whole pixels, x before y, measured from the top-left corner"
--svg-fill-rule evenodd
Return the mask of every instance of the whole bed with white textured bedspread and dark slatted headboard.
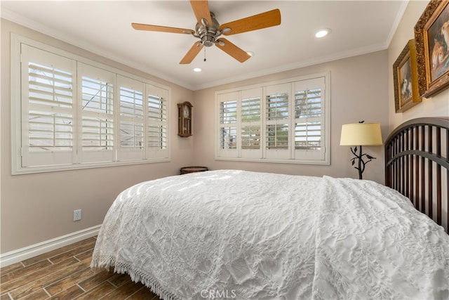
<path id="1" fill-rule="evenodd" d="M 91 267 L 162 299 L 449 299 L 449 122 L 422 121 L 387 138 L 388 186 L 241 170 L 134 185 L 107 212 Z M 412 149 L 412 124 L 445 145 Z"/>

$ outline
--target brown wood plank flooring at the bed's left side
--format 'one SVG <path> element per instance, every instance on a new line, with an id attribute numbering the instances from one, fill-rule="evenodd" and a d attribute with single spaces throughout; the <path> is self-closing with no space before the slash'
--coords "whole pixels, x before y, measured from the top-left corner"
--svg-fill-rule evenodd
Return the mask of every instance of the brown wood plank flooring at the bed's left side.
<path id="1" fill-rule="evenodd" d="M 96 237 L 0 269 L 0 300 L 159 300 L 145 285 L 89 267 Z"/>

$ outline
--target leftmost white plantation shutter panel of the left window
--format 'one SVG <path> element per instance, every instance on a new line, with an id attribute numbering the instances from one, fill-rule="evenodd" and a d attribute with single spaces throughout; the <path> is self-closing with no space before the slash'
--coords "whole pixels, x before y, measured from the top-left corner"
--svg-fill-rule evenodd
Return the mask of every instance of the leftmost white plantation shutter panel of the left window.
<path id="1" fill-rule="evenodd" d="M 22 44 L 22 167 L 72 164 L 76 61 Z"/>

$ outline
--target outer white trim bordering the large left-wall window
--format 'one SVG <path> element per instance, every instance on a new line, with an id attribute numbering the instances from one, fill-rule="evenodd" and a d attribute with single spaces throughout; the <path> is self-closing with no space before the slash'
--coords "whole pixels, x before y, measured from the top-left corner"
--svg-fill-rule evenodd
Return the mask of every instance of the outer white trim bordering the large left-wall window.
<path id="1" fill-rule="evenodd" d="M 76 60 L 79 63 L 84 63 L 87 65 L 91 65 L 93 67 L 98 67 L 100 69 L 114 72 L 116 75 L 128 77 L 130 79 L 135 79 L 141 81 L 143 84 L 151 85 L 156 87 L 157 89 L 163 89 L 167 91 L 167 99 L 166 99 L 166 114 L 167 114 L 167 156 L 166 157 L 149 157 L 146 159 L 138 159 L 138 160 L 128 160 L 128 161 L 119 161 L 116 160 L 114 162 L 86 162 L 86 163 L 76 163 L 76 164 L 62 164 L 62 165 L 46 165 L 46 166 L 38 166 L 38 167 L 22 167 L 22 122 L 21 122 L 21 114 L 22 114 L 22 91 L 21 91 L 21 44 L 27 44 L 29 46 L 39 48 L 43 51 L 48 51 L 54 53 L 58 56 L 64 56 L 66 58 Z M 40 41 L 35 41 L 34 39 L 29 39 L 27 37 L 22 37 L 19 34 L 11 34 L 11 174 L 33 174 L 33 173 L 43 173 L 43 172 L 52 172 L 52 171 L 68 171 L 75 169 L 92 169 L 99 167 L 118 167 L 124 165 L 133 165 L 133 164 L 149 164 L 149 163 L 157 163 L 157 162 L 170 162 L 171 160 L 171 150 L 170 150 L 170 98 L 171 98 L 171 88 L 169 86 L 165 86 L 160 84 L 159 82 L 152 81 L 143 77 L 140 77 L 136 74 L 132 74 L 123 70 L 120 70 L 116 67 L 111 67 L 109 65 L 104 65 L 102 63 L 98 63 L 95 60 L 91 60 L 89 58 L 85 58 L 83 56 L 70 53 L 68 51 L 62 50 L 55 46 L 50 46 L 48 44 L 43 44 Z M 146 96 L 145 96 L 146 97 Z M 145 98 L 144 97 L 144 98 Z M 79 101 L 76 98 L 76 101 Z M 119 143 L 119 141 L 116 141 Z M 74 145 L 75 148 L 78 145 Z M 145 148 L 147 149 L 147 148 Z M 117 151 L 117 150 L 116 150 Z M 144 150 L 144 152 L 147 150 Z"/>

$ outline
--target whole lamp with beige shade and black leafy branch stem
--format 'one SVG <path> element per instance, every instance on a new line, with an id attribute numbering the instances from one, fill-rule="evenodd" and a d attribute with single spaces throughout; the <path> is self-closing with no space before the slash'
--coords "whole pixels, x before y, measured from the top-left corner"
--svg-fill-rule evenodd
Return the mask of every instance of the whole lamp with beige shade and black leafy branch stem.
<path id="1" fill-rule="evenodd" d="M 351 159 L 351 164 L 358 170 L 358 179 L 362 179 L 365 166 L 371 160 L 375 159 L 371 155 L 362 153 L 362 146 L 382 145 L 382 133 L 380 131 L 379 123 L 363 123 L 344 124 L 342 126 L 342 135 L 340 137 L 340 145 L 355 146 L 351 148 L 354 157 Z M 358 151 L 357 151 L 358 150 Z M 364 160 L 366 158 L 367 160 Z"/>

